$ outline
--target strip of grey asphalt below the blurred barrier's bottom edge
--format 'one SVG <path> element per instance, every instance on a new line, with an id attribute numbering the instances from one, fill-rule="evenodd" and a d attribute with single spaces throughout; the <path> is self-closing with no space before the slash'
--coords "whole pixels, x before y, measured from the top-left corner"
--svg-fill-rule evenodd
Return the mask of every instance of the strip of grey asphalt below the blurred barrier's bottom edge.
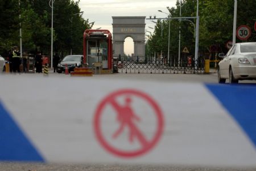
<path id="1" fill-rule="evenodd" d="M 39 163 L 0 163 L 0 170 L 5 171 L 255 171 L 255 168 L 209 168 L 209 167 L 189 167 L 189 166 L 163 166 L 163 165 L 108 165 L 108 164 L 39 164 Z"/>

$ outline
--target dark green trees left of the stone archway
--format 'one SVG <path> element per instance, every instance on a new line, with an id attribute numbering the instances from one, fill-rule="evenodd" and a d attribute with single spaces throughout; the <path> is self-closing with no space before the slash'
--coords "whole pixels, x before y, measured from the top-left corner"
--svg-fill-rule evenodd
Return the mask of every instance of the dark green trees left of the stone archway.
<path id="1" fill-rule="evenodd" d="M 24 53 L 51 53 L 51 7 L 49 0 L 0 0 L 0 53 L 19 46 L 22 28 Z M 55 0 L 53 3 L 53 51 L 62 55 L 82 53 L 82 36 L 92 27 L 82 18 L 79 1 Z"/>

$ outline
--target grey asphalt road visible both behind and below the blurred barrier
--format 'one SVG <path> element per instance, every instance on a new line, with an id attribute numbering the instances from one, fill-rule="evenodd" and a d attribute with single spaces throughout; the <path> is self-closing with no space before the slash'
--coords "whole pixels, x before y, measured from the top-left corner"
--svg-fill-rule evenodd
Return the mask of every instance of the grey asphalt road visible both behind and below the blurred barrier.
<path id="1" fill-rule="evenodd" d="M 20 74 L 23 76 L 24 74 Z M 27 74 L 26 74 L 27 75 Z M 43 74 L 30 74 L 34 76 L 42 76 Z M 53 73 L 49 71 L 52 77 L 70 77 L 65 74 Z M 217 83 L 217 74 L 112 74 L 112 75 L 93 75 L 96 78 L 123 79 L 123 80 L 152 80 L 153 82 L 181 82 L 181 83 Z M 228 81 L 228 80 L 227 80 Z M 242 81 L 240 83 L 255 84 L 256 81 Z M 0 152 L 1 153 L 1 152 Z M 109 164 L 42 164 L 42 163 L 0 163 L 0 170 L 256 170 L 256 168 L 220 168 L 220 167 L 205 167 L 205 166 L 173 166 L 173 165 L 109 165 Z"/>

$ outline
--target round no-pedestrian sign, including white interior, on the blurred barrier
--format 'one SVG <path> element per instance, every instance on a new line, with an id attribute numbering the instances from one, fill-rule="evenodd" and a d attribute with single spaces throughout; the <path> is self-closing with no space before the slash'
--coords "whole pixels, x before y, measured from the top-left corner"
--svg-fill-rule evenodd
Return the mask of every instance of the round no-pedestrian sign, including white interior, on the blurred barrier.
<path id="1" fill-rule="evenodd" d="M 147 108 L 148 112 L 139 114 L 136 106 Z M 108 110 L 112 112 L 106 112 Z M 109 113 L 112 113 L 112 116 Z M 147 124 L 143 126 L 145 124 L 143 120 L 150 117 L 155 120 L 155 126 L 150 125 L 155 128 L 152 132 L 145 129 L 148 127 Z M 110 124 L 113 129 L 109 129 L 108 123 L 102 122 L 102 118 L 114 118 L 111 119 L 114 122 Z M 108 132 L 112 130 L 111 133 L 105 133 L 106 129 Z M 94 115 L 94 131 L 98 142 L 106 151 L 119 157 L 140 156 L 150 151 L 162 135 L 162 110 L 146 93 L 134 89 L 122 89 L 110 93 L 100 102 Z"/>

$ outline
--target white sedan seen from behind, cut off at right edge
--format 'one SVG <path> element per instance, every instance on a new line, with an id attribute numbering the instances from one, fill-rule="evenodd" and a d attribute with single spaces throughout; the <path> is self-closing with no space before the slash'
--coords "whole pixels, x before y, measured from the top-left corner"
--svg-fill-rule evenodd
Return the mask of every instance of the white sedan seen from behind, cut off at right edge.
<path id="1" fill-rule="evenodd" d="M 221 57 L 221 56 L 220 56 Z M 256 80 L 256 42 L 237 43 L 218 63 L 218 82 Z"/>

